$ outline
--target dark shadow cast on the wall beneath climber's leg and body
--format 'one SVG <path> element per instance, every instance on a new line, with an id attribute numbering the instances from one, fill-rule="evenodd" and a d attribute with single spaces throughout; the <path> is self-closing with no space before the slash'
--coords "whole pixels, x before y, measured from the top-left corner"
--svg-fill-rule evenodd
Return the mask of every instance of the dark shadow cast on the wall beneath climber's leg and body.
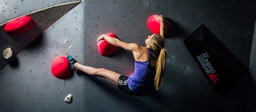
<path id="1" fill-rule="evenodd" d="M 163 109 L 159 106 L 166 105 L 167 100 L 170 100 L 167 99 L 167 96 L 162 92 L 154 92 L 147 96 L 126 95 L 122 91 L 113 90 L 113 88 L 116 86 L 110 84 L 107 80 L 100 80 L 99 78 L 90 76 L 82 71 L 78 71 L 77 73 L 89 80 L 94 81 L 98 86 L 101 86 L 101 88 L 104 89 L 104 92 L 112 95 L 112 99 L 122 100 L 122 103 L 125 103 L 122 105 L 129 105 L 133 107 L 133 109 L 138 109 L 138 111 L 159 111 Z M 145 98 L 151 101 L 145 101 Z"/>

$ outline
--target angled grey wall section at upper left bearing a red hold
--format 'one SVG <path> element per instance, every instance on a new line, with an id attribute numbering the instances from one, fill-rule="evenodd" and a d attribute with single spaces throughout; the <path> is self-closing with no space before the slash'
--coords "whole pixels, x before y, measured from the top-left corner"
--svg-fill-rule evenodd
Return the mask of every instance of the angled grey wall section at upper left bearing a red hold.
<path id="1" fill-rule="evenodd" d="M 15 1 L 14 1 L 15 2 Z M 27 47 L 33 40 L 37 38 L 46 28 L 55 23 L 60 17 L 62 17 L 66 12 L 71 10 L 74 6 L 76 6 L 80 1 L 68 2 L 63 4 L 58 4 L 54 6 L 50 6 L 48 8 L 39 9 L 34 12 L 27 12 L 26 15 L 30 16 L 35 25 L 29 30 L 22 34 L 8 34 L 4 31 L 4 27 L 6 23 L 0 25 L 0 43 L 2 46 L 0 47 L 0 52 L 6 48 L 12 49 L 12 57 L 9 59 L 5 59 L 2 56 L 0 57 L 0 71 L 12 61 L 16 61 L 16 56 Z M 16 6 L 16 8 L 20 8 L 21 6 Z M 12 15 L 12 13 L 9 13 Z"/>

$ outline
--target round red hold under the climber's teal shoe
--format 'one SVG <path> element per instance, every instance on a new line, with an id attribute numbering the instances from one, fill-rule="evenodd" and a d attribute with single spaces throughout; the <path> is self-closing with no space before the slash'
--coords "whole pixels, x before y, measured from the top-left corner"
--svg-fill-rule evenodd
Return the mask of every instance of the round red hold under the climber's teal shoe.
<path id="1" fill-rule="evenodd" d="M 68 78 L 72 73 L 68 58 L 64 56 L 55 58 L 51 63 L 51 73 L 59 79 Z"/>

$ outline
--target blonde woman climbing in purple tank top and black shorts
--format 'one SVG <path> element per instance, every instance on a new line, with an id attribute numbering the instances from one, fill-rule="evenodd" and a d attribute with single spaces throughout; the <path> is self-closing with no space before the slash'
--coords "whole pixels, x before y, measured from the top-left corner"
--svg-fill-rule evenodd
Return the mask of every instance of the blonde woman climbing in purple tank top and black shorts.
<path id="1" fill-rule="evenodd" d="M 164 48 L 164 16 L 160 15 L 157 18 L 160 19 L 160 34 L 147 36 L 146 47 L 137 43 L 126 43 L 105 34 L 100 35 L 97 40 L 99 42 L 105 39 L 113 46 L 132 51 L 135 68 L 131 76 L 126 77 L 104 68 L 97 69 L 85 66 L 68 56 L 71 70 L 80 70 L 91 76 L 104 77 L 110 83 L 118 86 L 120 91 L 129 95 L 146 95 L 151 91 L 158 90 L 163 81 L 167 51 Z"/>

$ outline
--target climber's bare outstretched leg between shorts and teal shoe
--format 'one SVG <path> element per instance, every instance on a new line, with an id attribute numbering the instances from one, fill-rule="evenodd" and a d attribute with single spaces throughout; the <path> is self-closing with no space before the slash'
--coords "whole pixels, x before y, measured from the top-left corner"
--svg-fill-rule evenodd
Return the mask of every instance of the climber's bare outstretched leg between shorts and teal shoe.
<path id="1" fill-rule="evenodd" d="M 92 68 L 90 66 L 85 66 L 80 63 L 75 63 L 75 68 L 77 68 L 80 71 L 83 71 L 87 74 L 90 74 L 91 76 L 99 76 L 104 77 L 107 81 L 117 86 L 118 78 L 121 76 L 121 74 L 117 72 L 113 72 L 111 70 L 107 70 L 104 68 Z"/>

